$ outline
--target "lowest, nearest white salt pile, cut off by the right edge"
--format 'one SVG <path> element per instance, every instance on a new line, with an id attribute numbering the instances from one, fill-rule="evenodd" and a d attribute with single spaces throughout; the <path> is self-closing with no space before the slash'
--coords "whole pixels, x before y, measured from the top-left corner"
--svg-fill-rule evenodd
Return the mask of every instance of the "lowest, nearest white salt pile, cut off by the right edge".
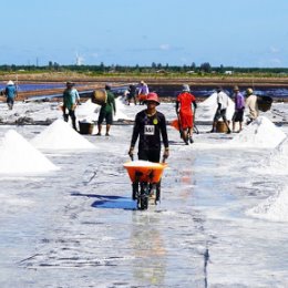
<path id="1" fill-rule="evenodd" d="M 288 187 L 246 212 L 247 215 L 274 222 L 288 222 Z"/>

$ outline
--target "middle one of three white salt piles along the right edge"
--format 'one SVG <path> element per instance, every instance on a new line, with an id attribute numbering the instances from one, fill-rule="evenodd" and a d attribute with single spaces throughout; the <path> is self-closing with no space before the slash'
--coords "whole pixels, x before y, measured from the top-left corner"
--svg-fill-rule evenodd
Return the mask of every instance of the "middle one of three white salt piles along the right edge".
<path id="1" fill-rule="evenodd" d="M 257 167 L 257 173 L 288 175 L 288 137 L 286 137 Z"/>

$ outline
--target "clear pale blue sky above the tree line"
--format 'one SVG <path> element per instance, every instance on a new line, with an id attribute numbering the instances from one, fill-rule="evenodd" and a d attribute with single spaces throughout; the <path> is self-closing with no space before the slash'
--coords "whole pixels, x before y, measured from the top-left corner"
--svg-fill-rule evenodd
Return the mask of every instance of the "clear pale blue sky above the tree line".
<path id="1" fill-rule="evenodd" d="M 0 64 L 288 68 L 287 0 L 13 0 Z"/>

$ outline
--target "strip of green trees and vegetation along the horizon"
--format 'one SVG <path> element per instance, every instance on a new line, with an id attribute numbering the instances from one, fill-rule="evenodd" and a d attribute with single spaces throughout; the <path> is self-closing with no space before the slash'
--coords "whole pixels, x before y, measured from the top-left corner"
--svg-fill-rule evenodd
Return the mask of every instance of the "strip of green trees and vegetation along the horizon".
<path id="1" fill-rule="evenodd" d="M 127 65 L 60 65 L 49 62 L 48 65 L 0 65 L 0 74 L 6 73 L 45 73 L 45 72 L 76 72 L 85 75 L 113 75 L 113 76 L 137 76 L 137 75 L 161 75 L 164 78 L 177 76 L 287 76 L 288 68 L 235 68 L 235 66 L 212 66 L 208 62 L 197 66 L 191 65 L 162 65 L 152 63 L 151 66 L 127 66 Z"/>

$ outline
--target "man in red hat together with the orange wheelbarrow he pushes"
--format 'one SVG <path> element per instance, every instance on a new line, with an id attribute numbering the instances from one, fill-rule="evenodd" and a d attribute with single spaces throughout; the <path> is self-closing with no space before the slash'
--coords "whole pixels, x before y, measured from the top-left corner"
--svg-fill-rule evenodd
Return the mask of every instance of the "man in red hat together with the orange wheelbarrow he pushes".
<path id="1" fill-rule="evenodd" d="M 134 147 L 138 138 L 138 162 L 144 162 L 144 166 L 148 167 L 144 169 L 143 166 L 142 168 L 134 168 L 134 176 L 128 171 L 133 182 L 132 198 L 137 199 L 138 208 L 141 209 L 147 208 L 151 194 L 155 193 L 155 203 L 160 202 L 161 175 L 165 167 L 163 163 L 169 155 L 166 119 L 163 113 L 156 110 L 156 106 L 160 105 L 158 95 L 156 93 L 148 93 L 145 104 L 147 109 L 136 114 L 128 150 L 128 155 L 133 160 Z M 164 144 L 163 163 L 160 163 L 161 137 Z M 126 167 L 126 165 L 124 166 Z M 138 187 L 141 191 L 138 191 Z"/>

